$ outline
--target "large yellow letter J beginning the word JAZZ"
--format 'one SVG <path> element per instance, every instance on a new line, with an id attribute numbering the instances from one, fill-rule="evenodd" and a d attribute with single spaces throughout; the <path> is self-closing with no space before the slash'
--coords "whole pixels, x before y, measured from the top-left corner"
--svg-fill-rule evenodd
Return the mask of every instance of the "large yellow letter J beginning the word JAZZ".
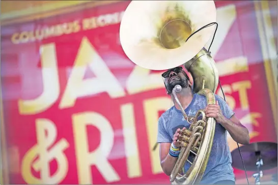
<path id="1" fill-rule="evenodd" d="M 20 114 L 43 112 L 58 99 L 60 94 L 55 45 L 43 45 L 41 46 L 41 52 L 43 92 L 38 98 L 33 100 L 20 99 L 18 101 Z"/>

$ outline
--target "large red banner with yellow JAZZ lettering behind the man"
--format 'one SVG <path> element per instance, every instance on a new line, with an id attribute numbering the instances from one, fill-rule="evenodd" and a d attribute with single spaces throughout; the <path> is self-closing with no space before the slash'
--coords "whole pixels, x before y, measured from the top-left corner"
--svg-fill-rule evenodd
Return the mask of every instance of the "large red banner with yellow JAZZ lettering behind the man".
<path id="1" fill-rule="evenodd" d="M 251 142 L 276 142 L 255 3 L 215 3 L 211 52 L 227 102 Z M 2 27 L 9 183 L 169 183 L 152 147 L 172 102 L 161 71 L 135 66 L 122 50 L 128 4 Z M 229 145 L 237 147 L 230 136 Z"/>

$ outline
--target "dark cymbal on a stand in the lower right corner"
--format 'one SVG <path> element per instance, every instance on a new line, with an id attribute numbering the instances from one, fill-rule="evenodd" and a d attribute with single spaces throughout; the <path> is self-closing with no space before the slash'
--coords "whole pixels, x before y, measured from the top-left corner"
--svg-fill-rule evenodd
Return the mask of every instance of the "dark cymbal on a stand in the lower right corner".
<path id="1" fill-rule="evenodd" d="M 251 143 L 241 146 L 240 152 L 247 171 L 257 171 L 257 155 L 260 155 L 263 160 L 263 165 L 260 167 L 261 170 L 268 170 L 277 167 L 277 143 Z M 231 152 L 231 155 L 233 160 L 232 166 L 237 169 L 244 170 L 238 148 L 234 149 Z"/>

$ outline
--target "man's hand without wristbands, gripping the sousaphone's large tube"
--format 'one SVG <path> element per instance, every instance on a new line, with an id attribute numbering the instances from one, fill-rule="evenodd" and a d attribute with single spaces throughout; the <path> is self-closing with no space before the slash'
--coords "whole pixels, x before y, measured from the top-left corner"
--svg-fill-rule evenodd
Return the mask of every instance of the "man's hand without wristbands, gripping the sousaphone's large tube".
<path id="1" fill-rule="evenodd" d="M 216 122 L 218 122 L 219 124 L 223 124 L 224 115 L 221 111 L 220 106 L 218 105 L 218 101 L 216 101 L 216 104 L 208 105 L 204 111 L 207 117 L 213 117 L 215 118 Z"/>

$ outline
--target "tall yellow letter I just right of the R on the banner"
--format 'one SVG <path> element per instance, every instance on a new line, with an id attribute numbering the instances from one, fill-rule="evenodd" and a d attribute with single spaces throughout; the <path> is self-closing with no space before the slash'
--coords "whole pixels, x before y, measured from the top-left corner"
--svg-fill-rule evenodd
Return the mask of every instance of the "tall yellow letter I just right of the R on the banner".
<path id="1" fill-rule="evenodd" d="M 139 177 L 142 176 L 142 169 L 137 146 L 133 105 L 122 105 L 121 114 L 123 122 L 127 174 L 129 178 Z"/>

